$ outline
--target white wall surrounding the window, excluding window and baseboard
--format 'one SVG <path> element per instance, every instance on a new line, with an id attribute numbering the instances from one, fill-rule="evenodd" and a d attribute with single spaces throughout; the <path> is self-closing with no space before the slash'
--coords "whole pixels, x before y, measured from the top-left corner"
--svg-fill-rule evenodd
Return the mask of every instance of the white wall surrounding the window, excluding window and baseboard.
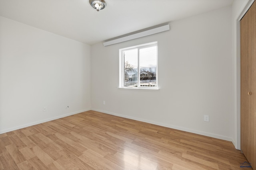
<path id="1" fill-rule="evenodd" d="M 173 21 L 163 33 L 92 45 L 92 109 L 233 141 L 231 13 L 222 8 Z M 117 88 L 118 50 L 153 41 L 160 90 Z"/>

